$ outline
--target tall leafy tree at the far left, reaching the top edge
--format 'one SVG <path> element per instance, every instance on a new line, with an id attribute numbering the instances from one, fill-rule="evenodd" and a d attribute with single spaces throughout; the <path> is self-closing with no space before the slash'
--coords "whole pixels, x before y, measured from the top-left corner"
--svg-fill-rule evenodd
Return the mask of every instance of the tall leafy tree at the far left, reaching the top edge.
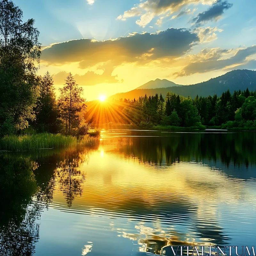
<path id="1" fill-rule="evenodd" d="M 0 135 L 24 129 L 35 119 L 41 44 L 35 21 L 22 19 L 12 1 L 0 1 Z"/>

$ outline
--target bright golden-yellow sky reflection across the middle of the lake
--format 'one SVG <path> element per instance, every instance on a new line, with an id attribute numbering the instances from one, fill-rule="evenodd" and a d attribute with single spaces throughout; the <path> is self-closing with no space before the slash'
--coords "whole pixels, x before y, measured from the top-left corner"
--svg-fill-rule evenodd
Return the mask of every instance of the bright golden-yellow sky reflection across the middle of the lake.
<path id="1" fill-rule="evenodd" d="M 108 157 L 103 157 L 105 155 Z M 229 204 L 238 205 L 241 196 L 246 198 L 244 204 L 256 202 L 255 191 L 252 187 L 244 189 L 243 180 L 227 177 L 218 170 L 212 171 L 209 166 L 177 163 L 159 172 L 154 166 L 110 153 L 107 146 L 93 152 L 90 164 L 81 164 L 79 169 L 86 172 L 83 191 L 86 200 L 84 196 L 75 199 L 80 205 L 104 205 L 111 210 L 116 209 L 117 204 L 125 209 L 138 202 L 141 208 L 147 209 L 165 202 L 182 203 L 189 210 L 194 202 L 197 205 L 195 217 L 206 220 L 215 219 L 218 203 L 228 200 Z M 106 180 L 111 182 L 106 183 Z"/>

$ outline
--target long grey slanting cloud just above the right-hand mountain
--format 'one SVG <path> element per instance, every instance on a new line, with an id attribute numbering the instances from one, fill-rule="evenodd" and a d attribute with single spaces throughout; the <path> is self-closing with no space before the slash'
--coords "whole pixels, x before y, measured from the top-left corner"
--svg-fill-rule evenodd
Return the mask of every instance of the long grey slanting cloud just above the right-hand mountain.
<path id="1" fill-rule="evenodd" d="M 256 45 L 247 47 L 245 49 L 239 49 L 236 51 L 235 55 L 223 59 L 223 54 L 227 54 L 233 52 L 232 50 L 222 50 L 222 52 L 215 52 L 212 58 L 205 59 L 201 57 L 201 60 L 198 59 L 195 62 L 189 63 L 185 68 L 183 68 L 180 72 L 176 72 L 173 75 L 176 76 L 189 76 L 196 73 L 204 73 L 212 70 L 218 69 L 227 69 L 231 66 L 239 67 L 244 64 L 248 64 L 247 57 L 256 54 Z M 208 54 L 209 51 L 204 54 Z M 251 64 L 254 64 L 251 60 Z"/>

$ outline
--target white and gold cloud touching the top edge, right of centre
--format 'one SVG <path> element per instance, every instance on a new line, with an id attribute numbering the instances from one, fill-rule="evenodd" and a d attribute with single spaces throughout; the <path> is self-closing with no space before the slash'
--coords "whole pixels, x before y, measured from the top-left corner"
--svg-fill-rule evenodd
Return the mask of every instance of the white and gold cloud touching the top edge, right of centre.
<path id="1" fill-rule="evenodd" d="M 141 27 L 145 27 L 155 16 L 164 15 L 167 12 L 167 16 L 170 16 L 173 12 L 179 11 L 183 6 L 188 4 L 212 4 L 215 1 L 216 0 L 147 0 L 125 11 L 124 14 L 119 15 L 117 19 L 126 20 L 128 17 L 141 16 L 140 20 L 143 21 L 137 20 L 136 23 Z M 185 12 L 183 14 L 185 14 Z M 149 17 L 152 17 L 152 19 L 149 19 Z M 161 18 L 157 21 L 157 24 L 161 24 Z"/>

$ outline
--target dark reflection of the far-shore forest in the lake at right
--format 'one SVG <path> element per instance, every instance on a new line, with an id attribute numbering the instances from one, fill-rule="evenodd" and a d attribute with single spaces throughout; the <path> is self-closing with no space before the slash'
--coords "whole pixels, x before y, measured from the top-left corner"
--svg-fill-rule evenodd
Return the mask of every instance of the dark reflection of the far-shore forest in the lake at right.
<path id="1" fill-rule="evenodd" d="M 119 138 L 119 151 L 139 161 L 170 165 L 203 159 L 234 165 L 256 163 L 256 133 L 170 133 L 160 137 Z"/>

